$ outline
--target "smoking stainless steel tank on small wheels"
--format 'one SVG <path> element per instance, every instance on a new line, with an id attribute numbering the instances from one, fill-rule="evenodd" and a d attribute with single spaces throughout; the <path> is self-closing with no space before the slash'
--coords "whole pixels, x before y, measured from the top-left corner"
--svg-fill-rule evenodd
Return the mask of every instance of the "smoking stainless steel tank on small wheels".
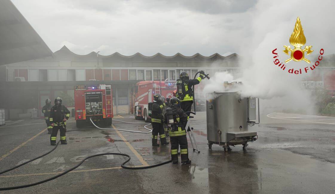
<path id="1" fill-rule="evenodd" d="M 238 144 L 245 148 L 247 142 L 255 141 L 257 132 L 249 132 L 248 126 L 259 124 L 251 121 L 256 119 L 256 98 L 241 98 L 238 92 L 214 92 L 212 95 L 215 98 L 206 101 L 209 148 L 212 144 L 223 146 L 225 150 L 230 149 L 229 145 Z"/>

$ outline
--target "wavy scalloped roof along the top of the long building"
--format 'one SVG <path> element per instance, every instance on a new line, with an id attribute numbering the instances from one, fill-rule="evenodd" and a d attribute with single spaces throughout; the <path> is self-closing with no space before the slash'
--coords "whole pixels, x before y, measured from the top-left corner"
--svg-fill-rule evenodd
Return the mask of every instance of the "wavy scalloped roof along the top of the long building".
<path id="1" fill-rule="evenodd" d="M 91 52 L 87 55 L 78 55 L 74 52 L 70 51 L 66 46 L 63 46 L 60 50 L 54 53 L 54 57 L 62 58 L 62 60 L 92 60 L 95 61 L 97 59 L 96 52 Z M 173 56 L 165 56 L 161 53 L 157 53 L 152 56 L 145 56 L 141 53 L 135 53 L 130 56 L 122 55 L 118 52 L 115 52 L 111 55 L 99 55 L 99 60 L 103 61 L 215 61 L 215 60 L 226 60 L 226 59 L 235 59 L 238 55 L 233 53 L 228 56 L 222 56 L 218 53 L 212 54 L 210 56 L 203 56 L 199 53 L 196 53 L 192 56 L 185 56 L 183 54 L 177 53 Z"/>

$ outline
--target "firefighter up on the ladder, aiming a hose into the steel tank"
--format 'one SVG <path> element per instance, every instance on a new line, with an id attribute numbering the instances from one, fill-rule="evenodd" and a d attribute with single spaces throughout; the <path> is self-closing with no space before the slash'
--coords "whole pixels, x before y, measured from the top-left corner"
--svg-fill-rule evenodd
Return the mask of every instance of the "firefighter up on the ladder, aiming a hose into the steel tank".
<path id="1" fill-rule="evenodd" d="M 182 79 L 182 88 L 183 88 L 183 93 L 180 96 L 180 107 L 186 112 L 188 116 L 190 116 L 191 107 L 193 104 L 193 91 L 192 91 L 192 86 L 197 85 L 205 78 L 205 72 L 200 71 L 200 75 L 197 79 L 189 79 L 189 76 L 185 71 L 181 72 L 180 79 Z"/>

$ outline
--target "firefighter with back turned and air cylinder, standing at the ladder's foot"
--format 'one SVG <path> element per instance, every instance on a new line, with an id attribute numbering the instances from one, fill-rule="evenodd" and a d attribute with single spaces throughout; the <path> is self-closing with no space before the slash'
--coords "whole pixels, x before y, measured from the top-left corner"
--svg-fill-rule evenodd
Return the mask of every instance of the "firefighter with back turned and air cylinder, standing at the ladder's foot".
<path id="1" fill-rule="evenodd" d="M 187 114 L 180 108 L 180 100 L 177 97 L 172 97 L 170 100 L 171 108 L 176 113 L 174 119 L 178 123 L 174 130 L 170 131 L 171 142 L 171 159 L 174 164 L 178 163 L 178 148 L 180 146 L 180 158 L 183 164 L 191 163 L 188 158 L 188 146 L 186 137 L 186 124 L 188 120 Z"/>

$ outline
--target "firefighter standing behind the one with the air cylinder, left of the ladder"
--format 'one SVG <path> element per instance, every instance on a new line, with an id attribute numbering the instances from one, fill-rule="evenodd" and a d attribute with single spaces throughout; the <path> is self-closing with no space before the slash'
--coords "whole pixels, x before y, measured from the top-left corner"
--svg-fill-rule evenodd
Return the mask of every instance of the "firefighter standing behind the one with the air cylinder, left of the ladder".
<path id="1" fill-rule="evenodd" d="M 153 95 L 152 111 L 151 111 L 151 124 L 153 129 L 151 139 L 153 146 L 159 146 L 159 144 L 157 144 L 158 133 L 160 143 L 162 145 L 169 145 L 169 143 L 166 142 L 166 136 L 164 133 L 164 126 L 163 126 L 162 111 L 164 107 L 165 103 L 163 101 L 162 96 L 160 94 Z"/>

